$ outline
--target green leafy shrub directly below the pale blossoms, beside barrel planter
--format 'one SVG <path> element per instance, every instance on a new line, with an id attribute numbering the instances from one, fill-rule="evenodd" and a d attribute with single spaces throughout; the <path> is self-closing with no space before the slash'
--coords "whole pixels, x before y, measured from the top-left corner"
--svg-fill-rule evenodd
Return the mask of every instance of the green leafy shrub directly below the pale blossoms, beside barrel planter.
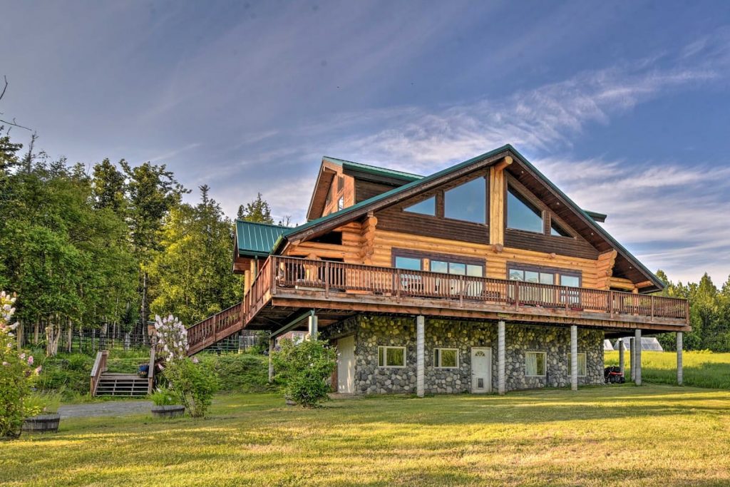
<path id="1" fill-rule="evenodd" d="M 218 390 L 215 375 L 185 357 L 168 361 L 164 377 L 170 383 L 177 404 L 183 404 L 193 418 L 201 418 L 207 413 L 213 394 Z"/>

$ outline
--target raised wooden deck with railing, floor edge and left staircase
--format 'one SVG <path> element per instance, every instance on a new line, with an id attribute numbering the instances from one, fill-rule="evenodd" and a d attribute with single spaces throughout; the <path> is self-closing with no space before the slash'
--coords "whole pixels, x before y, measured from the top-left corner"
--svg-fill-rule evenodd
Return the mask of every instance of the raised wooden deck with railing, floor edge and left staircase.
<path id="1" fill-rule="evenodd" d="M 687 331 L 688 302 L 392 267 L 271 256 L 243 302 L 188 329 L 191 354 L 246 327 L 278 329 L 304 309 L 321 325 L 357 312 Z"/>

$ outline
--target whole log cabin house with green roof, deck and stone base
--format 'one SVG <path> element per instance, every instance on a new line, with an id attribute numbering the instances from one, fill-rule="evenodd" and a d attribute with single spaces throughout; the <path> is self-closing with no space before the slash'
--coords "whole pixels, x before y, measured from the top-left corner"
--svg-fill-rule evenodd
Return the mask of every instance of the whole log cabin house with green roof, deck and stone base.
<path id="1" fill-rule="evenodd" d="M 189 329 L 191 353 L 308 330 L 337 347 L 334 390 L 418 395 L 604 383 L 604 340 L 629 332 L 676 331 L 680 358 L 687 302 L 651 294 L 605 218 L 510 145 L 426 177 L 325 157 L 307 223 L 237 221 L 245 297 Z"/>

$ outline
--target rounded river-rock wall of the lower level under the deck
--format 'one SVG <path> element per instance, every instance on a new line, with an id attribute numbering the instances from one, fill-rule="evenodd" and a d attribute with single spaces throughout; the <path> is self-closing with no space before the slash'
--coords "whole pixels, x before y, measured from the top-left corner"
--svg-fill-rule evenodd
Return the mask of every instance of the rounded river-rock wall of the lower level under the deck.
<path id="1" fill-rule="evenodd" d="M 542 387 L 567 387 L 570 351 L 569 327 L 526 326 L 507 323 L 505 370 L 507 391 Z M 415 318 L 359 315 L 320 331 L 324 340 L 355 335 L 355 389 L 359 394 L 415 393 Z M 602 384 L 603 340 L 601 330 L 578 329 L 578 353 L 585 353 L 586 375 L 580 385 Z M 471 348 L 492 349 L 492 390 L 497 389 L 497 323 L 476 321 L 426 320 L 427 394 L 469 392 Z M 406 348 L 406 367 L 378 367 L 379 346 Z M 458 349 L 458 367 L 434 367 L 434 348 Z M 547 354 L 544 377 L 527 377 L 525 353 Z"/>

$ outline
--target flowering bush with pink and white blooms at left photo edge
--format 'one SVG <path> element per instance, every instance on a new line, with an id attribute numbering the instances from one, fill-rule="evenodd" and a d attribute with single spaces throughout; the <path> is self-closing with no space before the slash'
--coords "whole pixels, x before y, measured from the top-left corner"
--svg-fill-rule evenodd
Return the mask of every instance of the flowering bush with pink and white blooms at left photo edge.
<path id="1" fill-rule="evenodd" d="M 15 350 L 13 304 L 15 296 L 0 291 L 0 438 L 20 436 L 23 418 L 40 413 L 27 398 L 41 368 L 33 368 L 33 356 Z"/>

